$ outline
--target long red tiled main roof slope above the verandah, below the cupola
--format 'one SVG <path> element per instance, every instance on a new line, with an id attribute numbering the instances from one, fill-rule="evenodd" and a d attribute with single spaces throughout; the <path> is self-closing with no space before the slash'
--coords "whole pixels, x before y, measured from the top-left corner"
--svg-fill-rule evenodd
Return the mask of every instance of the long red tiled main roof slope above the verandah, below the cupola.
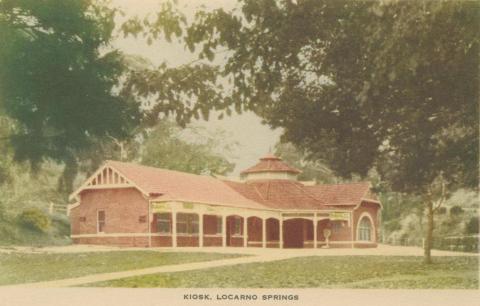
<path id="1" fill-rule="evenodd" d="M 372 198 L 370 183 L 305 186 L 293 180 L 222 181 L 209 176 L 108 161 L 155 199 L 257 209 L 326 209 L 352 206 Z M 374 200 L 374 199 L 372 199 Z"/>

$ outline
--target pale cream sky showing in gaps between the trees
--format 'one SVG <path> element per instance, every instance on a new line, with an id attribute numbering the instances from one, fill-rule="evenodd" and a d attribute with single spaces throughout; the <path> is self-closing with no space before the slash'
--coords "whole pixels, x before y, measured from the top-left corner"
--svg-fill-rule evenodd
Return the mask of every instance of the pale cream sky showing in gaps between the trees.
<path id="1" fill-rule="evenodd" d="M 130 16 L 145 16 L 158 10 L 161 0 L 113 0 L 112 4 L 121 8 Z M 232 9 L 236 5 L 234 0 L 179 0 L 178 5 L 187 18 L 192 17 L 195 11 L 201 6 L 210 8 Z M 188 63 L 196 57 L 186 51 L 179 43 L 167 43 L 157 41 L 148 45 L 146 41 L 134 38 L 119 37 L 114 41 L 114 47 L 119 48 L 128 54 L 137 54 L 149 59 L 154 64 L 166 61 L 170 66 L 180 66 Z M 222 59 L 218 59 L 222 63 Z M 199 120 L 194 125 L 205 128 L 209 132 L 221 129 L 229 135 L 227 141 L 236 143 L 235 152 L 232 152 L 229 159 L 236 164 L 231 176 L 237 176 L 241 170 L 254 165 L 258 159 L 267 154 L 278 142 L 281 130 L 272 130 L 262 125 L 261 119 L 252 112 L 243 114 L 234 113 L 231 117 L 224 117 L 222 120 L 211 116 L 209 121 Z"/>

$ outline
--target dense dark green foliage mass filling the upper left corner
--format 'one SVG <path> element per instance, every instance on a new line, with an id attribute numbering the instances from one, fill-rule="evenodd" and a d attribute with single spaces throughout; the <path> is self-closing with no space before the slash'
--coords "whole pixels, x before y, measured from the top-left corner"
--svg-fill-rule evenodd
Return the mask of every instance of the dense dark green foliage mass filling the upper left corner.
<path id="1" fill-rule="evenodd" d="M 113 90 L 124 70 L 119 52 L 105 52 L 114 16 L 87 0 L 0 2 L 0 106 L 15 120 L 18 160 L 68 161 L 138 122 Z"/>

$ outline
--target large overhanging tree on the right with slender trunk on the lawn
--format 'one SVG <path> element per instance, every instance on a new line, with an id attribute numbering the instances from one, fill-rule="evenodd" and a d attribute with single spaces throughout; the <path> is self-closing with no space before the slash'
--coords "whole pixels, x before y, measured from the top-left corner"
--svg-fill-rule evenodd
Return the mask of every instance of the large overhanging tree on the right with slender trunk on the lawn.
<path id="1" fill-rule="evenodd" d="M 186 45 L 227 48 L 232 100 L 343 177 L 376 167 L 434 212 L 478 186 L 479 3 L 240 1 L 197 13 Z"/>

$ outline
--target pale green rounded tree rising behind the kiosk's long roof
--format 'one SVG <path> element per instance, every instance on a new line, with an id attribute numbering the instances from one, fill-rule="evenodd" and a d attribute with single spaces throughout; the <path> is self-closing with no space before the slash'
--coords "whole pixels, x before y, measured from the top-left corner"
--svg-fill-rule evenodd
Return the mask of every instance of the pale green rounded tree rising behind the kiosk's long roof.
<path id="1" fill-rule="evenodd" d="M 188 140 L 183 136 L 188 133 Z M 225 135 L 204 135 L 196 128 L 181 130 L 174 122 L 163 120 L 146 133 L 141 145 L 140 162 L 144 165 L 195 174 L 221 174 L 231 172 L 234 164 L 226 154 L 231 145 Z M 221 151 L 221 152 L 220 152 Z"/>

